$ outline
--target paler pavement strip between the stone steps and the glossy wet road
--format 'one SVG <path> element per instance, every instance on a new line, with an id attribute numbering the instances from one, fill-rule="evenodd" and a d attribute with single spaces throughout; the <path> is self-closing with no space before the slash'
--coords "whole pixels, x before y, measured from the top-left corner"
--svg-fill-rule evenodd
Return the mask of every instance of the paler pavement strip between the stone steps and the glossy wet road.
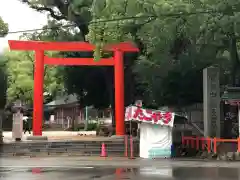
<path id="1" fill-rule="evenodd" d="M 64 162 L 64 163 L 63 163 Z M 12 157 L 1 158 L 0 167 L 229 167 L 239 168 L 239 162 L 219 162 L 195 159 L 128 159 L 125 157 Z"/>

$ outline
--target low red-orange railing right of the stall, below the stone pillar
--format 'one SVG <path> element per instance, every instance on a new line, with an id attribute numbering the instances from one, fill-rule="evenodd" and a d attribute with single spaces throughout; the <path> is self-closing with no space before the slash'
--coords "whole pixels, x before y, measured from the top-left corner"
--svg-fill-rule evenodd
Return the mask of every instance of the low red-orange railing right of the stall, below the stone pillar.
<path id="1" fill-rule="evenodd" d="M 205 137 L 191 137 L 182 136 L 182 144 L 190 146 L 191 148 L 196 148 L 202 150 L 207 148 L 207 151 L 217 153 L 217 143 L 218 142 L 233 142 L 238 145 L 238 152 L 240 152 L 240 138 L 238 139 L 221 139 L 221 138 L 205 138 Z M 211 146 L 212 145 L 212 146 Z"/>

